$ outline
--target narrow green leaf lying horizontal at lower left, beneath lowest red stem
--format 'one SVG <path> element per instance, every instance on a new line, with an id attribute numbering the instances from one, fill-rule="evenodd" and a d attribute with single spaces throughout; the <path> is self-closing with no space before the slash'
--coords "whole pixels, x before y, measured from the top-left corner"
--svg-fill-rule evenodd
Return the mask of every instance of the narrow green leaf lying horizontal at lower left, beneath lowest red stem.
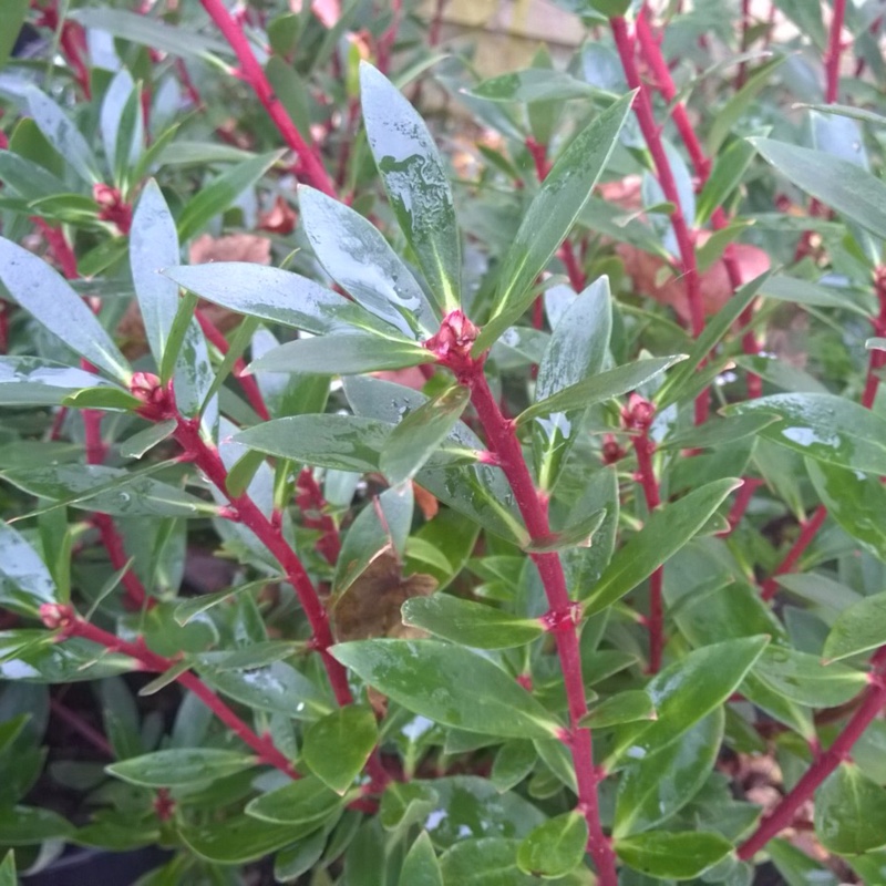
<path id="1" fill-rule="evenodd" d="M 130 784 L 145 787 L 182 787 L 215 779 L 224 779 L 235 772 L 250 769 L 257 758 L 239 751 L 223 751 L 218 748 L 178 748 L 155 751 L 112 763 L 105 771 Z"/>

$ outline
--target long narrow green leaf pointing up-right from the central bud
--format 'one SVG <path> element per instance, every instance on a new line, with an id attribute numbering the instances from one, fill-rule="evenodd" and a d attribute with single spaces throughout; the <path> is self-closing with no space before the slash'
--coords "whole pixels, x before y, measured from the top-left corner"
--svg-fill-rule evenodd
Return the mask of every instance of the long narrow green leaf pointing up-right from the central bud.
<path id="1" fill-rule="evenodd" d="M 490 322 L 475 352 L 488 348 L 533 300 L 533 284 L 575 224 L 600 177 L 630 113 L 633 93 L 622 96 L 580 132 L 548 173 L 504 258 Z"/>

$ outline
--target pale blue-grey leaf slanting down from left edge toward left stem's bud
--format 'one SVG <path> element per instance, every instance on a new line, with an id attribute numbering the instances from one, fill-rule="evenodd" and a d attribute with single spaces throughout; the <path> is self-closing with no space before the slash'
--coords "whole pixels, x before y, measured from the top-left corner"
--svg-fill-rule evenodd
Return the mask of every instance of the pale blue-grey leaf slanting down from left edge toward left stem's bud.
<path id="1" fill-rule="evenodd" d="M 128 383 L 126 358 L 82 299 L 42 258 L 0 237 L 0 280 L 35 320 L 109 375 Z"/>

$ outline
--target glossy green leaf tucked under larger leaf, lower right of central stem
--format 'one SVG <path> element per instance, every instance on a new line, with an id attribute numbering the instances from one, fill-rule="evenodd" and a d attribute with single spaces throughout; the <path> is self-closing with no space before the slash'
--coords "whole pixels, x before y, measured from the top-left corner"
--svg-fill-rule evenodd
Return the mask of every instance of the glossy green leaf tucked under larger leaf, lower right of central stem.
<path id="1" fill-rule="evenodd" d="M 714 708 L 680 741 L 619 773 L 615 839 L 667 822 L 696 796 L 720 755 L 724 720 L 723 709 Z"/>

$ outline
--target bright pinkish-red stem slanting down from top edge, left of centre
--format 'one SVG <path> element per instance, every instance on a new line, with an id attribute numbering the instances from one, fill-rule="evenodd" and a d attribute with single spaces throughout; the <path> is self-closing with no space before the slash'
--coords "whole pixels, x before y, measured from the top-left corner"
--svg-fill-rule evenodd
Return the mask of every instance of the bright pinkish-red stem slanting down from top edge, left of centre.
<path id="1" fill-rule="evenodd" d="M 318 190 L 334 197 L 336 190 L 323 166 L 320 152 L 315 144 L 308 143 L 302 137 L 282 103 L 275 94 L 264 69 L 253 53 L 243 25 L 235 21 L 223 0 L 200 0 L 200 3 L 237 55 L 243 79 L 253 87 L 287 145 L 296 152 L 299 158 L 300 177 Z"/>

